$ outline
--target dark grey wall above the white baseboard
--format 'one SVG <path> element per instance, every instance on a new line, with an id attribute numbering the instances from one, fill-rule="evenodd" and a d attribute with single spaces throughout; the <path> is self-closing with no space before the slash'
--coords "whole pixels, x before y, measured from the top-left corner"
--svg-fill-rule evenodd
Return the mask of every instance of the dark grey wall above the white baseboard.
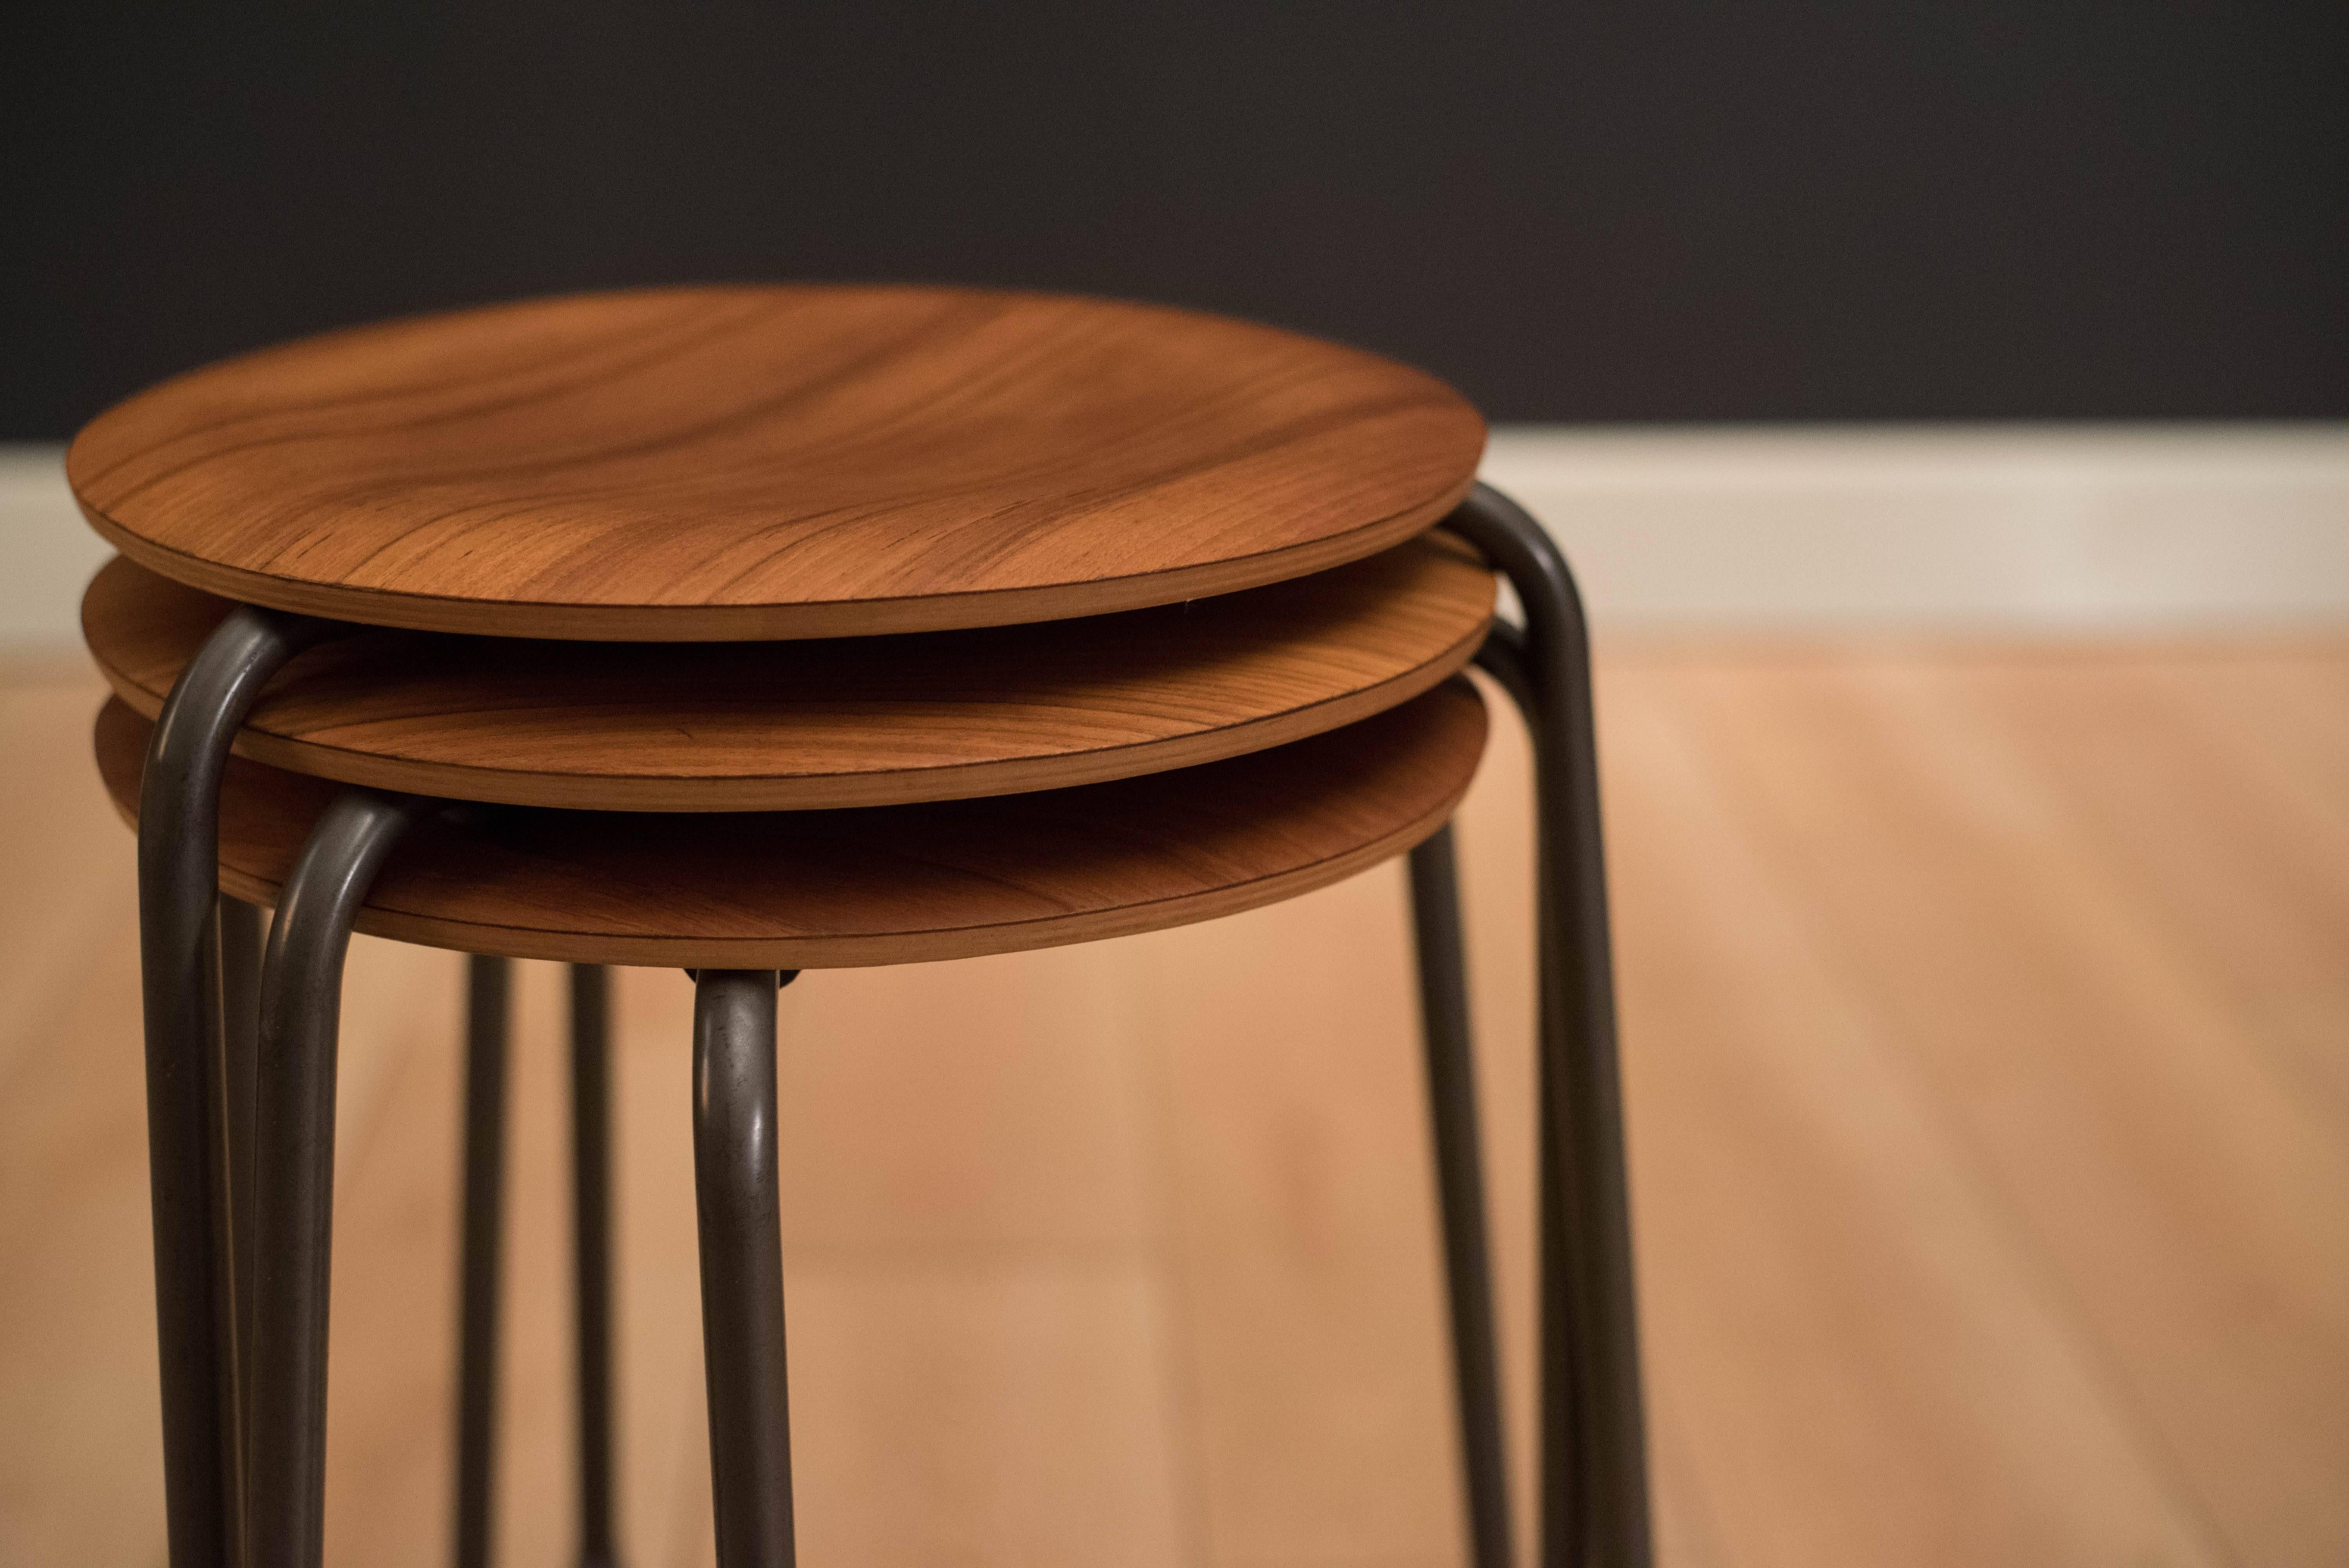
<path id="1" fill-rule="evenodd" d="M 2340 0 L 108 9 L 9 21 L 0 437 L 735 277 L 1210 305 L 1499 418 L 2349 413 Z"/>

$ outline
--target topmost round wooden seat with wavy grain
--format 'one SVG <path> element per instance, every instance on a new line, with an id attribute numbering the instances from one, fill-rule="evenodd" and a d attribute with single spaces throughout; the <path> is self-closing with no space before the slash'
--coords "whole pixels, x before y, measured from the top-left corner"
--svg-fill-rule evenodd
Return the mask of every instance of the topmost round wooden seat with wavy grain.
<path id="1" fill-rule="evenodd" d="M 1407 366 L 982 289 L 587 293 L 261 350 L 108 408 L 66 474 L 143 566 L 489 636 L 1066 620 L 1419 533 L 1485 425 Z"/>

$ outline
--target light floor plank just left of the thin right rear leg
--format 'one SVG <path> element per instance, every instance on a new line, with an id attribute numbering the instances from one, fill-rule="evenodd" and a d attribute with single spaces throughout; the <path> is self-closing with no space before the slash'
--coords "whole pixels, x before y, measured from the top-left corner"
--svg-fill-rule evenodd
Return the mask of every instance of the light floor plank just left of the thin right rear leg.
<path id="1" fill-rule="evenodd" d="M 1137 948 L 1205 1559 L 1454 1561 L 1400 876 Z"/>

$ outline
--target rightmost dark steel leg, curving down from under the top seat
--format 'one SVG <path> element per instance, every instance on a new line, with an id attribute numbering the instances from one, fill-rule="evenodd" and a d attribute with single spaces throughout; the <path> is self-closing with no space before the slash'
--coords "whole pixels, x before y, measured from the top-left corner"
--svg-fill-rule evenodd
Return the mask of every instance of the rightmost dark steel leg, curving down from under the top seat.
<path id="1" fill-rule="evenodd" d="M 1508 575 L 1525 631 L 1478 662 L 1534 737 L 1541 864 L 1541 1563 L 1647 1568 L 1647 1432 L 1600 845 L 1590 638 L 1557 545 L 1478 486 L 1445 519 Z"/>

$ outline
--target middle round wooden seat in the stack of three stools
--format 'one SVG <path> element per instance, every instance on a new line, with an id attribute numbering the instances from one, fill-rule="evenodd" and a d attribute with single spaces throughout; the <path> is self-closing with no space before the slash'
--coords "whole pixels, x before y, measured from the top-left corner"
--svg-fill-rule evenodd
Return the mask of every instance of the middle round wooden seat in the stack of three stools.
<path id="1" fill-rule="evenodd" d="M 1353 723 L 1475 653 L 1494 577 L 1428 533 L 1189 606 L 801 643 L 366 629 L 312 648 L 237 753 L 449 800 L 634 812 L 897 805 L 1191 768 Z M 228 603 L 115 559 L 82 634 L 153 718 Z"/>

